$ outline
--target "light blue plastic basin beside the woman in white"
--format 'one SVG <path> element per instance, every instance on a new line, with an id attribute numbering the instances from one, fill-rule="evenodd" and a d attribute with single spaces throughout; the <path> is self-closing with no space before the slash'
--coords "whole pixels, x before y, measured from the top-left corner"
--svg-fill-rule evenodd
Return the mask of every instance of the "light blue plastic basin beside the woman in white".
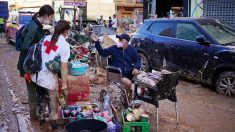
<path id="1" fill-rule="evenodd" d="M 69 63 L 69 74 L 73 76 L 81 76 L 86 74 L 88 64 L 74 61 Z"/>

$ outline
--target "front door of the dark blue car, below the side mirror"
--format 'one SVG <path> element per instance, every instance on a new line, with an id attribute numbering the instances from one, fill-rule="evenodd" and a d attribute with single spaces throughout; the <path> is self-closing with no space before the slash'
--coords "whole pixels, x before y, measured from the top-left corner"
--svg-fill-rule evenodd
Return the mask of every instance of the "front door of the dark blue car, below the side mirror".
<path id="1" fill-rule="evenodd" d="M 183 76 L 201 79 L 212 52 L 211 46 L 196 41 L 197 36 L 204 34 L 195 23 L 178 22 L 175 26 L 175 39 L 170 44 L 171 62 Z"/>

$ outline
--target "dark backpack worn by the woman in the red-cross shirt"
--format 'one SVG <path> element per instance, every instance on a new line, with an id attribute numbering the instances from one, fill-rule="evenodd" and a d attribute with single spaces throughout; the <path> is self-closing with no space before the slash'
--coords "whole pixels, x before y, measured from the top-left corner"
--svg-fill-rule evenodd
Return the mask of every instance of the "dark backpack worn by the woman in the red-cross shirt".
<path id="1" fill-rule="evenodd" d="M 26 59 L 23 63 L 25 73 L 34 74 L 42 69 L 42 38 L 38 43 L 33 44 L 27 53 Z"/>

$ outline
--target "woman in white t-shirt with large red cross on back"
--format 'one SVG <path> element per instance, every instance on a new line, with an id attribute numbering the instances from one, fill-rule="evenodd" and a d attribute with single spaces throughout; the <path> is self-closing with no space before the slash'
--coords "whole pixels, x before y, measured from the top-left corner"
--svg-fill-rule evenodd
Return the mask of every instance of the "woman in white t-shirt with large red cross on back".
<path id="1" fill-rule="evenodd" d="M 70 57 L 70 47 L 65 37 L 70 30 L 69 22 L 60 20 L 54 29 L 53 35 L 48 35 L 42 43 L 42 70 L 36 75 L 32 75 L 32 81 L 37 83 L 37 95 L 40 105 L 40 124 L 45 123 L 45 106 L 49 102 L 49 116 L 51 128 L 57 129 L 58 124 L 58 75 L 47 69 L 45 63 L 55 57 L 61 59 L 62 91 L 67 93 L 67 62 Z"/>

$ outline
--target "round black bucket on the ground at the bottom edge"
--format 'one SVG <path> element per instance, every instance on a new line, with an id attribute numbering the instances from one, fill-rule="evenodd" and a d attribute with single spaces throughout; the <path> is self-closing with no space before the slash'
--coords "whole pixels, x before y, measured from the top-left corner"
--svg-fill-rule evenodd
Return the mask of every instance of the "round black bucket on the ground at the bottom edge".
<path id="1" fill-rule="evenodd" d="M 86 119 L 69 123 L 65 126 L 66 132 L 107 132 L 108 125 L 105 122 Z"/>

